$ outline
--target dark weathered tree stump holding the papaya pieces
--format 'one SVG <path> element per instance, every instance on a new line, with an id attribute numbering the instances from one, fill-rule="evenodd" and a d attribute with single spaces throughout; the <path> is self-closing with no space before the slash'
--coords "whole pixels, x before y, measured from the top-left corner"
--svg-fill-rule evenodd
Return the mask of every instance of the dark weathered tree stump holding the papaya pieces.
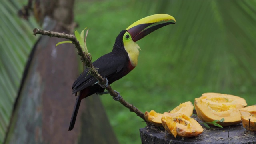
<path id="1" fill-rule="evenodd" d="M 199 123 L 202 122 L 197 116 L 194 117 Z M 204 128 L 204 132 L 192 138 L 174 138 L 163 127 L 154 125 L 140 128 L 142 144 L 256 144 L 256 133 L 244 129 L 241 124 L 230 126 L 230 128 L 218 128 L 210 126 Z"/>

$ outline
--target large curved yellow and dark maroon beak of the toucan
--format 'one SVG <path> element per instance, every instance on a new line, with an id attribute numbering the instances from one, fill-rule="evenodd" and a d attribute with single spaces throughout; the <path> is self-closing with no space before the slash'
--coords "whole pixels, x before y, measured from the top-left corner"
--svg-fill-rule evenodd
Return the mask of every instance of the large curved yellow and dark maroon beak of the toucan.
<path id="1" fill-rule="evenodd" d="M 168 14 L 154 14 L 134 22 L 132 25 L 126 28 L 126 31 L 130 33 L 132 40 L 136 42 L 151 32 L 154 32 L 158 28 L 162 28 L 163 26 L 167 26 L 169 24 L 176 24 L 174 22 L 170 22 L 170 20 L 174 20 L 174 22 L 176 22 L 175 18 Z M 151 26 L 152 24 L 154 25 Z"/>

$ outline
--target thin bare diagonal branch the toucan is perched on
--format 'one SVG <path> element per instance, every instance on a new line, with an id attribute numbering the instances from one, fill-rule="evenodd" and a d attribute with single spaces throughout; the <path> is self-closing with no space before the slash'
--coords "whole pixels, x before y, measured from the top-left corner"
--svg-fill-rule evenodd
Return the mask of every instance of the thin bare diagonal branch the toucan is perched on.
<path id="1" fill-rule="evenodd" d="M 84 64 L 91 70 L 90 75 L 94 76 L 98 80 L 100 85 L 104 85 L 106 83 L 106 80 L 104 80 L 104 78 L 102 78 L 102 76 L 100 76 L 100 74 L 98 74 L 98 71 L 92 65 L 92 60 L 91 60 L 90 53 L 85 54 L 85 52 L 83 52 L 78 40 L 76 39 L 76 37 L 73 34 L 65 34 L 65 33 L 53 32 L 53 31 L 45 31 L 45 30 L 41 30 L 39 28 L 35 28 L 33 30 L 33 33 L 34 33 L 35 36 L 36 36 L 36 34 L 41 34 L 41 35 L 46 35 L 46 36 L 56 37 L 56 38 L 66 38 L 66 39 L 72 41 L 72 43 L 75 45 L 76 49 L 78 50 L 78 55 L 81 56 L 82 62 L 84 62 Z M 115 98 L 118 98 L 118 93 L 115 92 L 111 88 L 110 85 L 108 85 L 108 87 L 105 88 L 105 89 L 108 90 L 108 92 L 111 96 L 113 96 Z M 146 122 L 144 114 L 140 110 L 138 110 L 138 108 L 136 108 L 132 104 L 129 104 L 128 102 L 126 102 L 122 97 L 118 101 L 123 106 L 128 108 L 131 112 L 135 112 L 137 114 L 137 116 L 139 116 L 140 118 L 142 118 Z"/>

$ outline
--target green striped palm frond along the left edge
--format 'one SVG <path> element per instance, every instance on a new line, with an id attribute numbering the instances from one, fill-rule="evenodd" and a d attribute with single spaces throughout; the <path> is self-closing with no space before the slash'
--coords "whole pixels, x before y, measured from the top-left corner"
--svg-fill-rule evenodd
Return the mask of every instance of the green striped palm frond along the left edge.
<path id="1" fill-rule="evenodd" d="M 36 41 L 32 29 L 38 27 L 34 20 L 21 20 L 19 8 L 16 1 L 0 3 L 0 143 L 10 122 L 28 54 Z"/>

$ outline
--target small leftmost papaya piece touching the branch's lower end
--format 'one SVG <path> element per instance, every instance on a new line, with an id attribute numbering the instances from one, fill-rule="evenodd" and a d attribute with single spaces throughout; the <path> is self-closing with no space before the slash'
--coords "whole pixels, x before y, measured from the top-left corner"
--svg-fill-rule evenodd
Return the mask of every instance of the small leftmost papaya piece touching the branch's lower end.
<path id="1" fill-rule="evenodd" d="M 154 124 L 155 126 L 162 126 L 162 115 L 161 113 L 157 113 L 154 110 L 151 110 L 150 112 L 145 112 L 145 119 L 146 121 Z"/>

